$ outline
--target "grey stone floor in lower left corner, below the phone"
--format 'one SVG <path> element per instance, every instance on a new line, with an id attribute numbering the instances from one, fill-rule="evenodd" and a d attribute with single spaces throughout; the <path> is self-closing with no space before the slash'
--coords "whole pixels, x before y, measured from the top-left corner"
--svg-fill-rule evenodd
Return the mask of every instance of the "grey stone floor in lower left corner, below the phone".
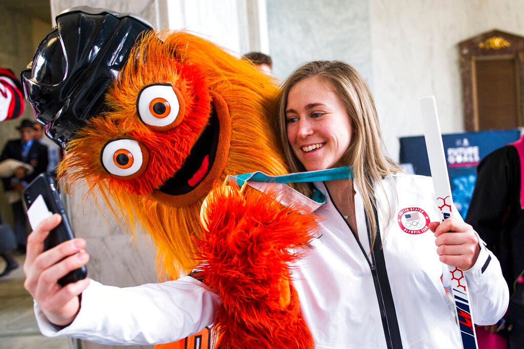
<path id="1" fill-rule="evenodd" d="M 15 258 L 20 267 L 0 278 L 0 348 L 73 348 L 69 339 L 51 339 L 40 334 L 32 310 L 32 298 L 24 289 L 24 256 L 15 255 Z M 0 271 L 4 268 L 2 260 Z"/>

